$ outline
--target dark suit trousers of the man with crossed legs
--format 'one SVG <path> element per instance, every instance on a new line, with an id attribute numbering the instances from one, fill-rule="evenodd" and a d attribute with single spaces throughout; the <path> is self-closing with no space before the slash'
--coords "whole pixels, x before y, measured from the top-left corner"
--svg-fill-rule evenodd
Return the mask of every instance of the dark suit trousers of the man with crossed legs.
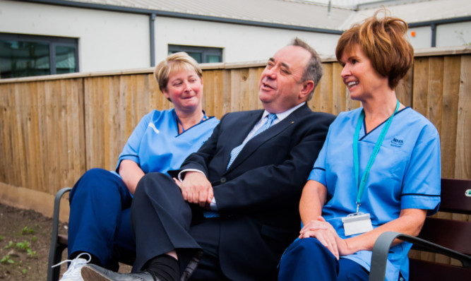
<path id="1" fill-rule="evenodd" d="M 191 258 L 203 251 L 191 280 L 224 280 L 217 253 L 220 220 L 205 219 L 201 211 L 183 200 L 179 186 L 167 174 L 146 174 L 131 207 L 136 235 L 133 271 L 145 269 L 155 256 L 176 250 L 183 272 Z"/>

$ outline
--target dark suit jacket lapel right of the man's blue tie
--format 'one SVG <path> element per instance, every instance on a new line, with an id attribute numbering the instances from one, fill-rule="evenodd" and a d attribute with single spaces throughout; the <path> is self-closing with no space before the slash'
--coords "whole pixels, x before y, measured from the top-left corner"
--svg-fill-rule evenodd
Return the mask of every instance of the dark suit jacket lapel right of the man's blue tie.
<path id="1" fill-rule="evenodd" d="M 287 128 L 289 128 L 289 126 L 295 124 L 296 121 L 299 119 L 299 117 L 298 117 L 299 114 L 306 114 L 306 112 L 311 112 L 311 109 L 309 109 L 309 107 L 306 104 L 304 104 L 302 107 L 299 107 L 298 109 L 294 110 L 294 112 L 292 112 L 292 114 L 288 115 L 285 119 L 280 121 L 278 124 L 275 124 L 275 125 L 271 126 L 266 131 L 263 131 L 262 133 L 259 133 L 258 136 L 255 136 L 254 138 L 251 138 L 251 140 L 249 140 L 249 142 L 247 142 L 245 144 L 244 148 L 239 153 L 239 155 L 237 155 L 237 158 L 234 160 L 234 162 L 229 167 L 229 169 L 227 169 L 227 172 L 229 172 L 230 170 L 234 169 L 239 164 L 244 162 L 244 160 L 246 160 L 247 157 L 249 157 L 252 153 L 254 153 L 254 151 L 257 148 L 259 148 L 260 145 L 263 145 L 263 143 L 265 143 L 267 140 L 269 140 L 270 138 L 274 138 L 279 133 L 281 133 L 282 131 L 285 131 Z M 255 125 L 255 123 L 252 124 L 252 126 L 250 128 L 253 128 L 254 125 Z M 247 132 L 246 135 L 248 133 L 249 132 Z M 244 136 L 244 138 L 245 138 L 245 136 Z M 242 141 L 239 142 L 239 144 L 240 143 L 242 143 Z M 231 148 L 231 150 L 232 150 L 232 148 Z M 230 158 L 230 156 L 227 158 L 227 162 L 229 162 L 229 158 Z"/>

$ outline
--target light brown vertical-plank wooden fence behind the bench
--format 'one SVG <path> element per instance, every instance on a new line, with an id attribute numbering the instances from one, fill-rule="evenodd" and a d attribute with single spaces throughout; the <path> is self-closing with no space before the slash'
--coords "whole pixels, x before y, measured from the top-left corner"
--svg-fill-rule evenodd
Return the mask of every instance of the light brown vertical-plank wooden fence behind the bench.
<path id="1" fill-rule="evenodd" d="M 227 112 L 261 108 L 257 89 L 264 65 L 203 65 L 206 113 L 220 118 Z M 311 109 L 338 114 L 359 107 L 340 79 L 340 65 L 324 59 L 323 68 Z M 141 117 L 154 108 L 172 107 L 152 71 L 0 80 L 0 202 L 35 209 L 43 204 L 51 212 L 52 195 L 73 186 L 87 169 L 114 169 Z M 416 52 L 414 67 L 397 89 L 403 104 L 427 116 L 438 129 L 442 177 L 471 179 L 470 73 L 470 47 L 425 49 Z"/>

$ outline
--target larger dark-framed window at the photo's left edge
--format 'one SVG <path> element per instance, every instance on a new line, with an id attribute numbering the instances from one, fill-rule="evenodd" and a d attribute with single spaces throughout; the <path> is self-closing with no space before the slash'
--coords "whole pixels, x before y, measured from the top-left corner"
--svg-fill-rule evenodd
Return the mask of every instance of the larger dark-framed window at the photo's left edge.
<path id="1" fill-rule="evenodd" d="M 78 40 L 0 33 L 0 78 L 78 72 Z"/>

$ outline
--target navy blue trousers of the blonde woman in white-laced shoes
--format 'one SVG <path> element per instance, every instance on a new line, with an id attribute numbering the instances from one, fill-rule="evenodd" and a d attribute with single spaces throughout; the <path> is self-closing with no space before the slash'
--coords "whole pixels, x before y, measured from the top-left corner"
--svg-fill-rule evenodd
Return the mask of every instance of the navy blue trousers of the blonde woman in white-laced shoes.
<path id="1" fill-rule="evenodd" d="M 121 178 L 105 169 L 90 169 L 73 186 L 69 201 L 69 258 L 84 251 L 106 268 L 117 270 L 120 255 L 135 255 L 133 198 Z"/>

